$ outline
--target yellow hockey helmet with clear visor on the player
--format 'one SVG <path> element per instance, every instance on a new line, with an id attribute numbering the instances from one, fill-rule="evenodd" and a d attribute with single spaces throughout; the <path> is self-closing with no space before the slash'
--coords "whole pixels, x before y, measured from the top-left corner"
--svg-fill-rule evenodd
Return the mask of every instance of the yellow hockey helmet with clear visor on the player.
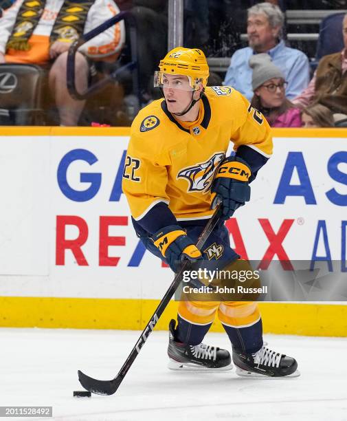
<path id="1" fill-rule="evenodd" d="M 205 54 L 197 48 L 176 47 L 159 63 L 159 71 L 155 72 L 155 87 L 163 87 L 164 74 L 180 74 L 188 76 L 189 85 L 197 89 L 199 83 L 205 87 L 210 74 Z"/>

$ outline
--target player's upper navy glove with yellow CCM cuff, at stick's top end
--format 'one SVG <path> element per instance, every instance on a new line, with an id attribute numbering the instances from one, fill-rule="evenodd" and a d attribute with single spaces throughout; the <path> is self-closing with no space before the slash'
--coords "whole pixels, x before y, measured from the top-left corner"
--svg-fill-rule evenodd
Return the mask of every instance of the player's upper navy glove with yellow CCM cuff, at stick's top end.
<path id="1" fill-rule="evenodd" d="M 249 202 L 251 169 L 241 158 L 230 156 L 219 165 L 212 182 L 211 209 L 222 204 L 222 219 L 229 219 L 235 210 Z"/>

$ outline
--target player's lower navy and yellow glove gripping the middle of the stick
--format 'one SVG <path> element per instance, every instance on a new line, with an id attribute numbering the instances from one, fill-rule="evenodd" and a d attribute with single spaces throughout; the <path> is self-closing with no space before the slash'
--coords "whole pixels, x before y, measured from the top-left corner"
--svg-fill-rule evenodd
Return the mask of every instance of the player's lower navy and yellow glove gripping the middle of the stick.
<path id="1" fill-rule="evenodd" d="M 168 261 L 170 268 L 176 273 L 184 259 L 196 261 L 202 259 L 201 252 L 179 225 L 170 225 L 152 236 L 161 255 Z"/>

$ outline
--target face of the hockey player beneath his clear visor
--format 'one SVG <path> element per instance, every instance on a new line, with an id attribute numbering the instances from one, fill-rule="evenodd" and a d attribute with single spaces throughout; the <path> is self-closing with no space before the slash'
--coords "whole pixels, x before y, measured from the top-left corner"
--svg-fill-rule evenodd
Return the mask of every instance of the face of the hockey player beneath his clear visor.
<path id="1" fill-rule="evenodd" d="M 163 77 L 163 90 L 170 113 L 181 113 L 190 105 L 192 87 L 189 85 L 188 76 L 165 74 Z"/>

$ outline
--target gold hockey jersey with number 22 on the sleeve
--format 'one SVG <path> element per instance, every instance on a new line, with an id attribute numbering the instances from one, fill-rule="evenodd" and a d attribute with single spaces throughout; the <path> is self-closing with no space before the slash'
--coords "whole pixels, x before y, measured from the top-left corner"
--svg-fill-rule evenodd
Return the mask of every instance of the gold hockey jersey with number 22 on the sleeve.
<path id="1" fill-rule="evenodd" d="M 160 202 L 178 221 L 209 218 L 214 172 L 230 141 L 265 161 L 272 153 L 267 121 L 231 87 L 206 87 L 196 122 L 176 120 L 163 99 L 144 107 L 131 126 L 122 180 L 133 218 L 140 222 Z"/>

